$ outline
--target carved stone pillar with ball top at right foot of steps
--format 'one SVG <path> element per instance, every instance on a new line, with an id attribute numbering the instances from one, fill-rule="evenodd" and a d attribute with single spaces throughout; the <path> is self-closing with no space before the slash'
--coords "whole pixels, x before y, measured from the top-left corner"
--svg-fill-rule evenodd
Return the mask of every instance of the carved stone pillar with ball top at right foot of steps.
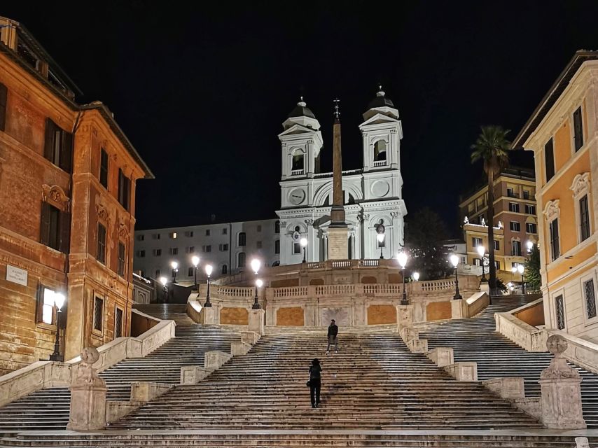
<path id="1" fill-rule="evenodd" d="M 567 342 L 561 335 L 548 337 L 546 346 L 555 357 L 540 374 L 542 423 L 552 429 L 583 429 L 581 378 L 567 365 L 563 353 Z"/>

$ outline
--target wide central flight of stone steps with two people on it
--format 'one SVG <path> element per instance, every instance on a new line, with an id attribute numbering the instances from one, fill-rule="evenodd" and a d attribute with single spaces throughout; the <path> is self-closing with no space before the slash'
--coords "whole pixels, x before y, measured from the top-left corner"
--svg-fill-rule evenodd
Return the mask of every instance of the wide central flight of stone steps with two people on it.
<path id="1" fill-rule="evenodd" d="M 480 384 L 454 381 L 423 354 L 410 353 L 394 326 L 343 328 L 340 353 L 328 356 L 326 328 L 267 330 L 270 334 L 249 353 L 232 358 L 200 384 L 177 386 L 110 427 L 269 431 L 541 427 Z M 324 370 L 319 409 L 312 409 L 305 386 L 314 357 Z"/>

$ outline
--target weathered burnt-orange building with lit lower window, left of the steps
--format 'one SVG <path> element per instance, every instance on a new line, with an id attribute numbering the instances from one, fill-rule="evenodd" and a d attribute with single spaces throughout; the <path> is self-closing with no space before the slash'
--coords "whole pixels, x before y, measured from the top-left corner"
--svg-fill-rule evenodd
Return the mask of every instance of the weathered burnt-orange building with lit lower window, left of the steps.
<path id="1" fill-rule="evenodd" d="M 0 374 L 47 360 L 57 328 L 65 359 L 130 329 L 134 192 L 153 176 L 109 109 L 76 93 L 0 18 Z"/>

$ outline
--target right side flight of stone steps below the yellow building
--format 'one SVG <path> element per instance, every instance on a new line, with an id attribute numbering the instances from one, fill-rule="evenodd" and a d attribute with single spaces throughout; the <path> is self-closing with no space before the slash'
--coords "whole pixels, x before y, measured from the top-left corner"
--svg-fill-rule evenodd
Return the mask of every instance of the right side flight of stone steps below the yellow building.
<path id="1" fill-rule="evenodd" d="M 416 323 L 419 337 L 428 339 L 428 348 L 449 346 L 454 361 L 478 363 L 480 381 L 496 377 L 523 377 L 525 395 L 540 395 L 540 373 L 548 367 L 552 355 L 530 353 L 496 332 L 494 313 L 510 311 L 525 304 L 523 296 L 494 298 L 482 313 L 473 318 Z M 572 365 L 573 367 L 576 367 Z M 581 394 L 583 416 L 588 428 L 598 428 L 598 375 L 576 367 L 583 378 Z"/>

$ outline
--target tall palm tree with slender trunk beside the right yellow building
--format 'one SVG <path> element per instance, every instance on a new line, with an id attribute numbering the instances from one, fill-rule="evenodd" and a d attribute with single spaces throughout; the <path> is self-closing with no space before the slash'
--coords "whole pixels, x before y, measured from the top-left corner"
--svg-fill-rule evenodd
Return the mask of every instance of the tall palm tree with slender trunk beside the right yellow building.
<path id="1" fill-rule="evenodd" d="M 475 144 L 471 145 L 471 163 L 482 160 L 488 176 L 488 253 L 489 253 L 489 288 L 496 288 L 496 265 L 494 264 L 494 178 L 508 166 L 510 141 L 506 139 L 510 130 L 500 126 L 482 126 L 482 133 Z"/>

